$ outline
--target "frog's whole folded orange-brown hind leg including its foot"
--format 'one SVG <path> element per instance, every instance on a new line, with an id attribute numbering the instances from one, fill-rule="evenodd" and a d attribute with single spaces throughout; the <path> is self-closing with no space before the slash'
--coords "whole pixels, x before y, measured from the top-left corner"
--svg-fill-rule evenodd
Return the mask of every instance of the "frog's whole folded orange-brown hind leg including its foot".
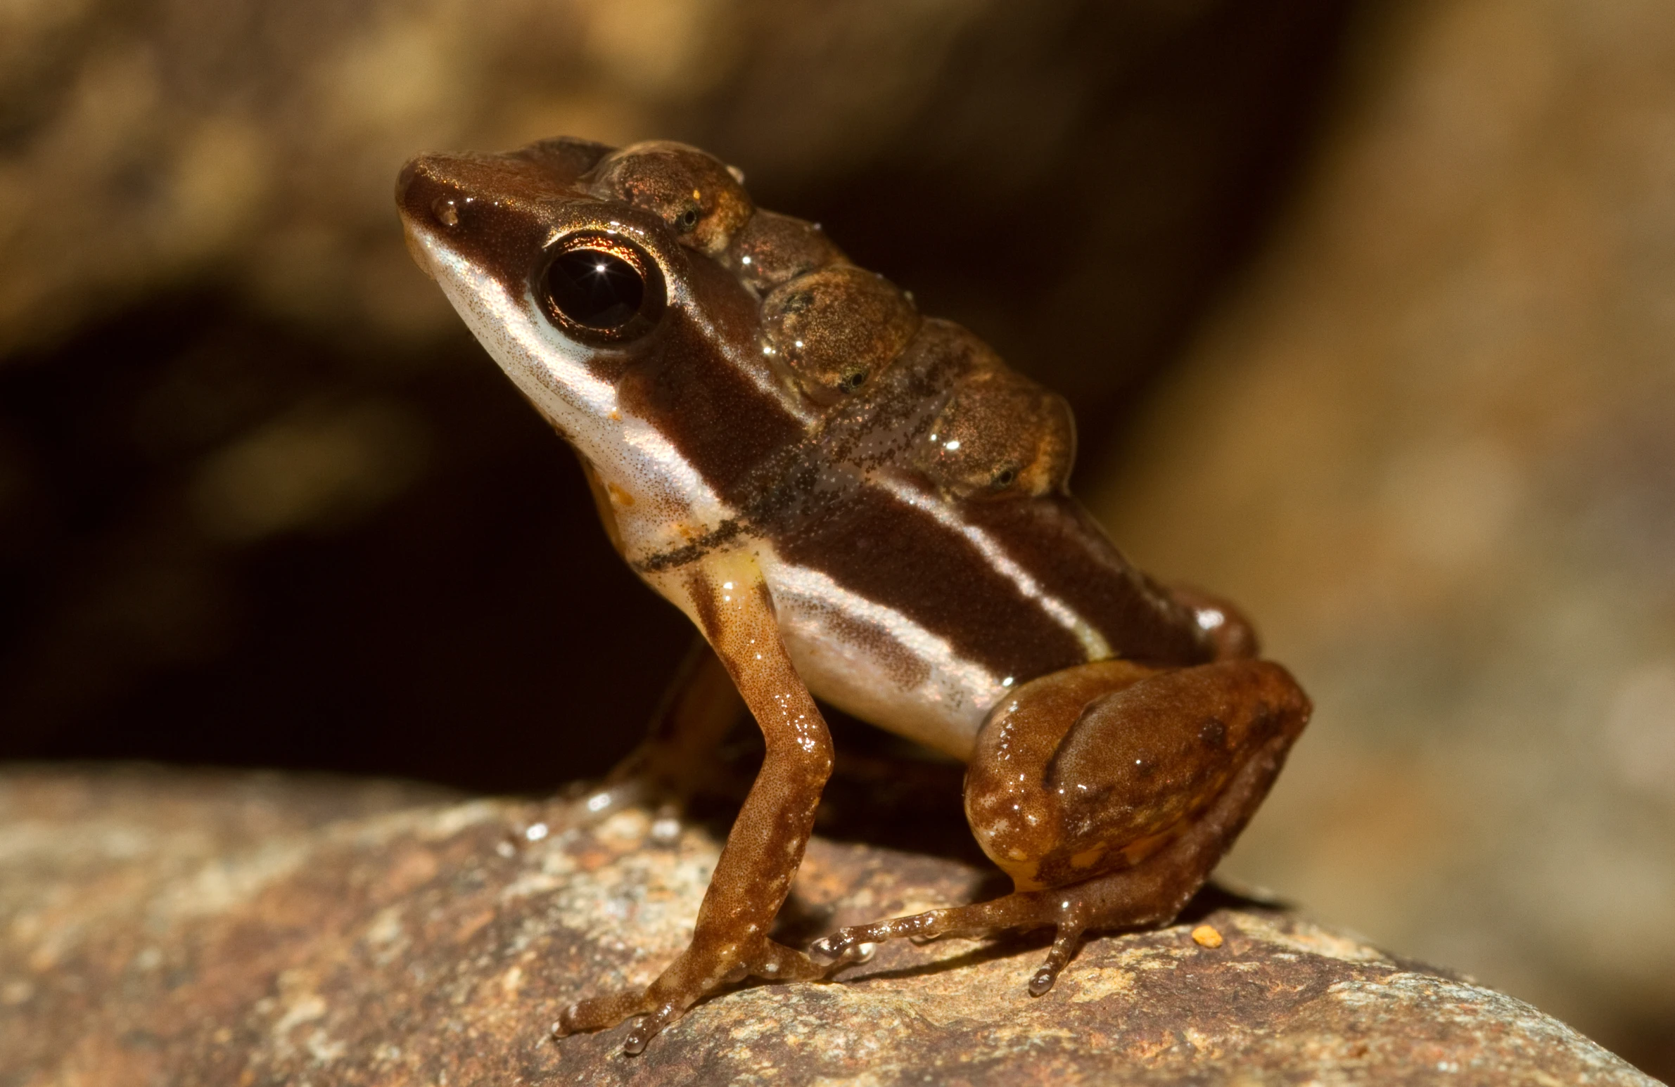
<path id="1" fill-rule="evenodd" d="M 1263 660 L 1151 670 L 1112 660 L 1018 688 L 990 712 L 965 811 L 1017 891 L 844 928 L 844 958 L 899 936 L 1054 926 L 1030 993 L 1052 988 L 1082 933 L 1162 925 L 1186 906 L 1266 796 L 1310 702 Z"/>

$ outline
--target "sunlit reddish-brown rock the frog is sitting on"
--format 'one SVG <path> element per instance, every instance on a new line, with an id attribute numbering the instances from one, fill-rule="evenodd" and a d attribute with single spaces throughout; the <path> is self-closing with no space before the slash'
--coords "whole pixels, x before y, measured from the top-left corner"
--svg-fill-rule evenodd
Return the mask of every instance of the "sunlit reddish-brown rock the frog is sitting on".
<path id="1" fill-rule="evenodd" d="M 1089 941 L 1040 1000 L 1038 940 L 948 940 L 709 1000 L 642 1057 L 620 1028 L 554 1043 L 563 1003 L 675 953 L 717 854 L 704 829 L 657 846 L 643 812 L 580 811 L 12 769 L 0 1084 L 1653 1082 L 1529 1005 L 1226 893 Z M 784 935 L 990 881 L 816 839 Z"/>

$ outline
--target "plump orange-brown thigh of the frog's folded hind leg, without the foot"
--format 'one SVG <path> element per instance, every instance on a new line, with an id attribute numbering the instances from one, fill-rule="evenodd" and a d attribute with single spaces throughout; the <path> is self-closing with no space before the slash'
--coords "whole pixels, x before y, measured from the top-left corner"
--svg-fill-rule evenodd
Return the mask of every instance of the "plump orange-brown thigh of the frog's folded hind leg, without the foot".
<path id="1" fill-rule="evenodd" d="M 1306 705 L 1271 662 L 1067 668 L 990 714 L 966 817 L 1020 891 L 1132 868 L 1181 837 L 1256 752 L 1290 745 Z"/>

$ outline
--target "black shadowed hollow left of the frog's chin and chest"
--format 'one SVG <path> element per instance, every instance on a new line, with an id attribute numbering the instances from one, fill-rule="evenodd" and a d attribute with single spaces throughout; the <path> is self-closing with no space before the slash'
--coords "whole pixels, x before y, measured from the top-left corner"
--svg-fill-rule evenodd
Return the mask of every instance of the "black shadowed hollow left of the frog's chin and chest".
<path id="1" fill-rule="evenodd" d="M 379 427 L 405 462 L 218 513 L 218 472 L 273 489 L 265 444 L 353 462 Z M 464 337 L 402 357 L 176 300 L 0 370 L 0 442 L 27 466 L 0 529 L 8 759 L 546 791 L 635 742 L 647 677 L 687 645 Z M 293 523 L 286 502 L 328 507 Z"/>

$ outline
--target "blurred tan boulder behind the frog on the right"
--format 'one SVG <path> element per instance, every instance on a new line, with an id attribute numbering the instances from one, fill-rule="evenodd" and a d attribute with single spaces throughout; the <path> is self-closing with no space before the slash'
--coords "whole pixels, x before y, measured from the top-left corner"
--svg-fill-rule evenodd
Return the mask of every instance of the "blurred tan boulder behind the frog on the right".
<path id="1" fill-rule="evenodd" d="M 1675 20 L 1390 5 L 1095 501 L 1315 697 L 1231 871 L 1675 1075 Z"/>

